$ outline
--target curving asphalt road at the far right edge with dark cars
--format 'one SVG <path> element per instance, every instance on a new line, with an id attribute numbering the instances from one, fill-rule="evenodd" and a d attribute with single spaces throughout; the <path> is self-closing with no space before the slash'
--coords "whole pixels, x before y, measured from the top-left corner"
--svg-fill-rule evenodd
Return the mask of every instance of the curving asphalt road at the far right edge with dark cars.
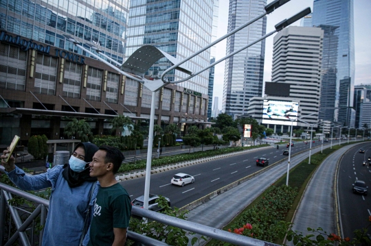
<path id="1" fill-rule="evenodd" d="M 359 153 L 359 149 L 365 153 Z M 371 215 L 371 167 L 367 159 L 371 156 L 371 144 L 357 145 L 347 151 L 339 165 L 338 193 L 340 207 L 340 221 L 342 235 L 353 238 L 353 232 L 361 227 L 366 227 Z M 362 162 L 366 160 L 366 166 Z M 368 195 L 352 193 L 352 184 L 355 180 L 363 180 L 368 186 Z M 371 234 L 371 228 L 368 233 Z"/>

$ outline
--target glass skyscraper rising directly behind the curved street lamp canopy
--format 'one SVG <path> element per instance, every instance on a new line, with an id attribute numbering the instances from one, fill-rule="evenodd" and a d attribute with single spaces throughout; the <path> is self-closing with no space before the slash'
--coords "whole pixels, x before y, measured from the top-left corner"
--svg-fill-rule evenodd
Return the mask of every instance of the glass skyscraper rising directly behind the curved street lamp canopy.
<path id="1" fill-rule="evenodd" d="M 126 55 L 143 45 L 155 47 L 183 60 L 211 42 L 213 1 L 194 0 L 131 0 Z M 186 62 L 191 71 L 199 71 L 210 64 L 210 50 Z M 166 58 L 159 60 L 150 70 L 156 77 L 170 67 Z M 170 71 L 168 79 L 179 80 L 188 75 Z M 209 71 L 179 84 L 196 93 L 207 95 Z M 198 103 L 198 102 L 190 102 Z"/>

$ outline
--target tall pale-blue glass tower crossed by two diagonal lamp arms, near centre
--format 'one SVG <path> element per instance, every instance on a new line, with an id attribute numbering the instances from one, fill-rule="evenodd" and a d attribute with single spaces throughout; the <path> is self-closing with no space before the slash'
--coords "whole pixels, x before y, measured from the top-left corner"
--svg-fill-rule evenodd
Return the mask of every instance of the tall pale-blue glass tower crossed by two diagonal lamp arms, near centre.
<path id="1" fill-rule="evenodd" d="M 264 12 L 267 0 L 230 0 L 228 32 Z M 267 18 L 256 21 L 227 38 L 227 54 L 266 34 Z M 225 60 L 222 111 L 246 114 L 251 97 L 262 96 L 265 40 Z"/>

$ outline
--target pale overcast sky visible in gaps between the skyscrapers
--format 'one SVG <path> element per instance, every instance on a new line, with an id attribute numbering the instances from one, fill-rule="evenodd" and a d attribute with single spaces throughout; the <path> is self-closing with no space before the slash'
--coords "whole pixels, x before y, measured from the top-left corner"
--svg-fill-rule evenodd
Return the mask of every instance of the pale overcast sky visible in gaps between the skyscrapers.
<path id="1" fill-rule="evenodd" d="M 268 0 L 270 3 L 272 0 Z M 291 0 L 267 16 L 267 33 L 274 25 L 293 16 L 304 8 L 311 7 L 313 0 Z M 229 0 L 219 0 L 218 38 L 227 34 Z M 371 0 L 354 0 L 355 16 L 355 84 L 371 84 Z M 292 25 L 300 25 L 300 21 Z M 273 34 L 265 41 L 264 81 L 271 81 Z M 225 40 L 217 45 L 216 60 L 225 56 Z M 214 97 L 219 97 L 219 109 L 222 107 L 225 62 L 216 65 L 214 77 Z"/>

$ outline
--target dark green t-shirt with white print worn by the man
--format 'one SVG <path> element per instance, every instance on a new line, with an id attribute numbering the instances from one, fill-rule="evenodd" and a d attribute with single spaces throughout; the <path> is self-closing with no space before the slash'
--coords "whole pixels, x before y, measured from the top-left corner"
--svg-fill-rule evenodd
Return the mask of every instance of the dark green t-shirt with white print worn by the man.
<path id="1" fill-rule="evenodd" d="M 127 228 L 131 216 L 131 201 L 120 184 L 100 187 L 94 204 L 88 246 L 111 246 L 113 228 Z"/>

